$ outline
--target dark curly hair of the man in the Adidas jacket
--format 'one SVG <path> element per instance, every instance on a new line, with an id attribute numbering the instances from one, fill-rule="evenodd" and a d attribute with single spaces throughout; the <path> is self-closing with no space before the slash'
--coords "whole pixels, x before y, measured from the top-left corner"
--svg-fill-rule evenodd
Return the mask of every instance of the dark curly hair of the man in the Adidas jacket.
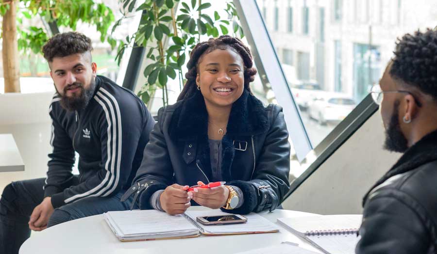
<path id="1" fill-rule="evenodd" d="M 42 48 L 44 58 L 49 62 L 53 62 L 54 57 L 65 57 L 92 50 L 91 39 L 80 32 L 58 33 L 51 37 Z"/>

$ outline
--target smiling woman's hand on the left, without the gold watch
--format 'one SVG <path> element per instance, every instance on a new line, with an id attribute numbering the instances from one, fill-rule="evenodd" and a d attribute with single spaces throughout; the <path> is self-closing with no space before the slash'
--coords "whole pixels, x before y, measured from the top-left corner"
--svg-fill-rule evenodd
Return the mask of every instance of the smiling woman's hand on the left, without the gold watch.
<path id="1" fill-rule="evenodd" d="M 188 188 L 188 185 L 181 186 L 179 184 L 168 186 L 159 197 L 159 202 L 164 211 L 171 215 L 184 213 L 191 206 L 191 198 L 186 192 Z"/>

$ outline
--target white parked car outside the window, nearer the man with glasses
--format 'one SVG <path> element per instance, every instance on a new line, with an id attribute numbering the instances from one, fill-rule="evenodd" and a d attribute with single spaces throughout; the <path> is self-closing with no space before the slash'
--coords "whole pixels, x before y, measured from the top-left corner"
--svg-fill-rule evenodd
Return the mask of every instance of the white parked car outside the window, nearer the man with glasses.
<path id="1" fill-rule="evenodd" d="M 320 124 L 327 122 L 340 122 L 356 106 L 349 95 L 341 93 L 324 93 L 314 97 L 308 106 L 308 115 Z"/>

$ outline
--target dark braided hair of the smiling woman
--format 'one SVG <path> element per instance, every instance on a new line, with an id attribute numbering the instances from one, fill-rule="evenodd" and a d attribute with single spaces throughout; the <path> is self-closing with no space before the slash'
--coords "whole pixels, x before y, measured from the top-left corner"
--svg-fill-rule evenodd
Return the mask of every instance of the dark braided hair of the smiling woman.
<path id="1" fill-rule="evenodd" d="M 209 38 L 205 42 L 198 43 L 190 53 L 190 60 L 186 64 L 188 72 L 185 74 L 186 83 L 181 94 L 178 96 L 178 101 L 188 98 L 194 93 L 198 93 L 196 88 L 196 77 L 199 69 L 199 63 L 203 55 L 210 53 L 216 49 L 231 49 L 239 54 L 244 63 L 244 88 L 251 93 L 249 83 L 255 79 L 256 69 L 253 68 L 251 50 L 243 44 L 243 42 L 229 35 L 221 35 L 218 38 Z"/>

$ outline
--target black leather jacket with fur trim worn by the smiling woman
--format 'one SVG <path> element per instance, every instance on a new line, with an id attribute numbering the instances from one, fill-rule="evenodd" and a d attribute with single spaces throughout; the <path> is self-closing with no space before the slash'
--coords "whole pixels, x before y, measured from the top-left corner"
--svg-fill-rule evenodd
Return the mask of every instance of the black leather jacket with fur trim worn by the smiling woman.
<path id="1" fill-rule="evenodd" d="M 141 209 L 151 209 L 150 197 L 157 190 L 173 183 L 209 182 L 207 124 L 201 93 L 161 108 L 145 159 L 124 198 L 135 194 Z M 280 106 L 265 108 L 245 90 L 233 104 L 222 149 L 222 181 L 239 187 L 244 196 L 243 205 L 230 212 L 272 211 L 281 204 L 289 190 L 290 144 Z"/>

